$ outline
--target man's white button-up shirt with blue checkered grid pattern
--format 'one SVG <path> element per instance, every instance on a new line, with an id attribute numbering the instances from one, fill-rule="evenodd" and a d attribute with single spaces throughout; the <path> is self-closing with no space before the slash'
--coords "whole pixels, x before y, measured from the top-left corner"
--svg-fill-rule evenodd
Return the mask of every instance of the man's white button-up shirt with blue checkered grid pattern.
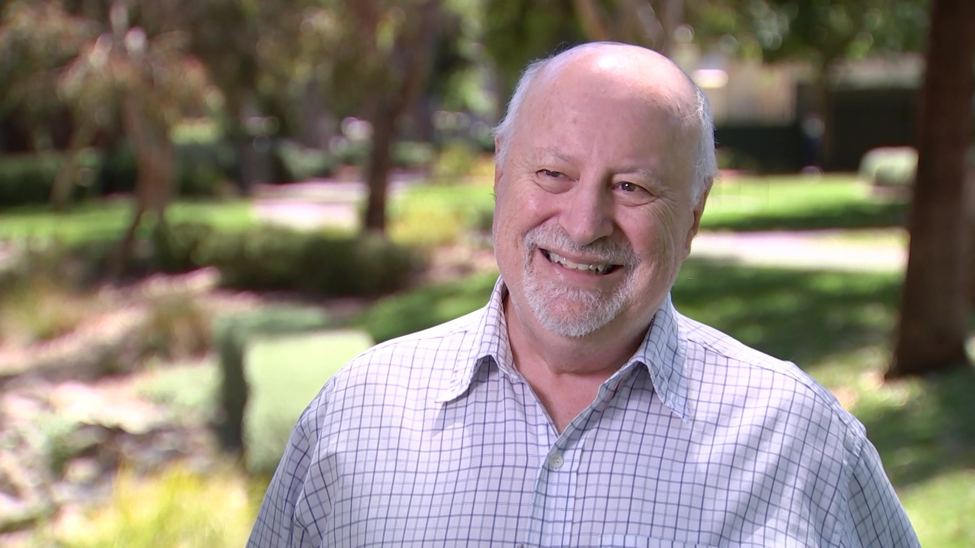
<path id="1" fill-rule="evenodd" d="M 670 300 L 555 430 L 487 307 L 380 344 L 301 415 L 249 546 L 917 546 L 863 426 Z"/>

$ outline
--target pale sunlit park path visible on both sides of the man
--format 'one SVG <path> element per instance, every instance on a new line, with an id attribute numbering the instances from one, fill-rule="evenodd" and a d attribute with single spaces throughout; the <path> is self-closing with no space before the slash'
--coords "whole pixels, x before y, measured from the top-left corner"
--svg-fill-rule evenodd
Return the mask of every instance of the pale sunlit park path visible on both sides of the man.
<path id="1" fill-rule="evenodd" d="M 390 197 L 417 180 L 409 174 L 394 176 Z M 266 184 L 257 187 L 254 211 L 263 220 L 295 228 L 354 228 L 365 196 L 365 184 L 356 181 L 317 179 L 288 185 Z M 907 250 L 897 237 L 891 237 L 899 230 L 858 231 L 861 236 L 853 240 L 839 236 L 848 235 L 849 230 L 703 231 L 694 239 L 691 256 L 756 266 L 900 271 L 907 264 Z M 877 237 L 876 243 L 873 236 Z"/>

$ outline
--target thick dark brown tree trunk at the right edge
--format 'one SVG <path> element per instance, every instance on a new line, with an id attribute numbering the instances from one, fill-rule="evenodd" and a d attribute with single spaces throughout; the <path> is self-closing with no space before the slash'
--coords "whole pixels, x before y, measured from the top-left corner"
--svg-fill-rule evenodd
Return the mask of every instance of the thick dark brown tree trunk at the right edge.
<path id="1" fill-rule="evenodd" d="M 935 0 L 921 91 L 911 253 L 887 377 L 962 367 L 970 226 L 964 166 L 971 133 L 975 2 Z"/>

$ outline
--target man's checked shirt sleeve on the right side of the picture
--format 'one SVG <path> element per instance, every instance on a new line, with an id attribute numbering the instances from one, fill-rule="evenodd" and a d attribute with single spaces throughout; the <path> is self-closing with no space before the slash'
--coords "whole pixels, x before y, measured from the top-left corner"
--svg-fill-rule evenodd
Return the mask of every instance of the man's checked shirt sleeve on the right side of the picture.
<path id="1" fill-rule="evenodd" d="M 850 515 L 844 531 L 853 547 L 920 547 L 897 493 L 887 479 L 874 445 L 865 441 L 850 476 Z"/>

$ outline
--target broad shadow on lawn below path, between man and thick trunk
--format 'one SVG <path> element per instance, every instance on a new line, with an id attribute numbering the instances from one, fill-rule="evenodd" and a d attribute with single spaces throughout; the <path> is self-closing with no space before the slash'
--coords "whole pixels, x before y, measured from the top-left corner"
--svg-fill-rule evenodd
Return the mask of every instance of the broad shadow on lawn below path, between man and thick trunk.
<path id="1" fill-rule="evenodd" d="M 688 259 L 674 287 L 685 315 L 749 346 L 809 367 L 885 343 L 894 327 L 900 278 L 759 268 Z"/>

